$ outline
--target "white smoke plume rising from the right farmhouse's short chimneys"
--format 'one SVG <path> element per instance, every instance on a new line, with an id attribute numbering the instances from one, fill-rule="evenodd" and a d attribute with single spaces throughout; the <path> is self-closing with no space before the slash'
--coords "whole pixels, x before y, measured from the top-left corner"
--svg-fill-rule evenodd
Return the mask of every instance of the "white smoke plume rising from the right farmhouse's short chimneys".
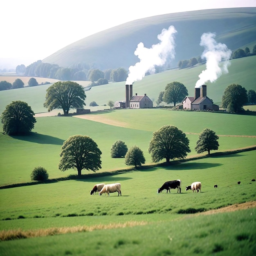
<path id="1" fill-rule="evenodd" d="M 217 43 L 214 39 L 215 36 L 216 34 L 213 33 L 204 33 L 201 36 L 200 45 L 204 46 L 201 57 L 206 59 L 206 70 L 203 70 L 199 75 L 199 80 L 195 84 L 196 88 L 207 81 L 213 83 L 222 73 L 227 74 L 229 72 L 227 68 L 230 65 L 231 50 L 228 49 L 227 45 Z"/>

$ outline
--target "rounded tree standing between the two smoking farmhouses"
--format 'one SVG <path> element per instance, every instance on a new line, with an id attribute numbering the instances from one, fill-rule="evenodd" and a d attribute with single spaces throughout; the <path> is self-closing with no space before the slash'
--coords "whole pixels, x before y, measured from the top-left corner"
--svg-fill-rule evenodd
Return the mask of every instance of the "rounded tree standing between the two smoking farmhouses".
<path id="1" fill-rule="evenodd" d="M 188 95 L 188 90 L 183 83 L 172 82 L 168 83 L 164 89 L 163 101 L 167 104 L 173 102 L 176 106 L 177 102 L 181 102 Z"/>

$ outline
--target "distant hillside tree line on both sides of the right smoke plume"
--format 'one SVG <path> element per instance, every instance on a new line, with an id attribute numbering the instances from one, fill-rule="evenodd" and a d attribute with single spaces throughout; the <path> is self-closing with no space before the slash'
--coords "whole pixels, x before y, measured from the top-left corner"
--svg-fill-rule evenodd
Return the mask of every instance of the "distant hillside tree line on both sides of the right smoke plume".
<path id="1" fill-rule="evenodd" d="M 254 45 L 254 47 L 252 48 L 252 53 L 249 49 L 249 47 L 245 47 L 245 49 L 237 49 L 235 51 L 232 52 L 231 54 L 231 59 L 235 59 L 235 58 L 243 58 L 243 57 L 247 57 L 247 56 L 252 56 L 252 55 L 256 55 L 256 45 Z M 190 58 L 190 59 L 186 59 L 186 60 L 180 60 L 178 62 L 178 68 L 179 69 L 183 69 L 183 68 L 188 68 L 188 67 L 193 67 L 197 64 L 205 64 L 205 60 L 201 58 L 201 56 L 199 56 L 198 58 Z"/>

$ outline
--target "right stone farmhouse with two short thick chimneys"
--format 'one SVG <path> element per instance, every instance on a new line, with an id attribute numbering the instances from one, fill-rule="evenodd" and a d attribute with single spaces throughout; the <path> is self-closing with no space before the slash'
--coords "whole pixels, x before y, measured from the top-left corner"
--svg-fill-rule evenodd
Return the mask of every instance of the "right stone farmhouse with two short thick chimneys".
<path id="1" fill-rule="evenodd" d="M 219 110 L 219 106 L 207 97 L 206 85 L 195 88 L 194 97 L 186 97 L 182 101 L 183 109 L 191 110 Z"/>

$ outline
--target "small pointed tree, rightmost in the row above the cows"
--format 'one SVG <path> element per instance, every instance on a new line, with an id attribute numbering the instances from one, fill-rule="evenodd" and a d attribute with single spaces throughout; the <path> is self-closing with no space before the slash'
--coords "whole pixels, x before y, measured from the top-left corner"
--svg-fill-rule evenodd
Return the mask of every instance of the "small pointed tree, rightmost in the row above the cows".
<path id="1" fill-rule="evenodd" d="M 218 150 L 219 137 L 215 134 L 213 130 L 209 128 L 205 128 L 199 135 L 198 141 L 196 142 L 195 151 L 200 154 L 204 151 L 208 151 L 208 155 L 210 155 L 210 150 Z"/>

